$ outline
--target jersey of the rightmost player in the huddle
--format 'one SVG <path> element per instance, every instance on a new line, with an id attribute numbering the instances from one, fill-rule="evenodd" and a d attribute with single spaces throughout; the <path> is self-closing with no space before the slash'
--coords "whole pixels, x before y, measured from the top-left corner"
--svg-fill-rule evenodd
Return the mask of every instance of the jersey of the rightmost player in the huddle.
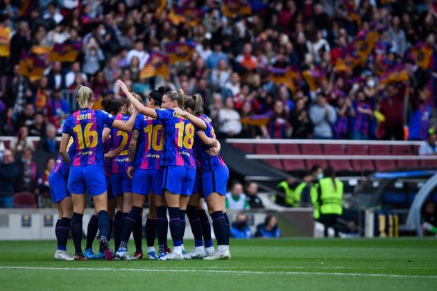
<path id="1" fill-rule="evenodd" d="M 209 118 L 205 114 L 198 117 L 205 121 L 207 125 L 207 129 L 204 131 L 206 136 L 211 139 L 214 138 L 214 127 L 212 127 L 211 118 Z M 205 152 L 208 148 L 209 147 L 205 145 L 205 143 L 203 143 L 203 141 L 201 141 L 196 134 L 196 138 L 194 141 L 194 153 L 196 155 L 198 170 L 200 170 L 200 172 L 202 173 L 212 172 L 214 170 L 217 170 L 218 168 L 225 166 L 225 162 L 220 157 L 220 155 L 212 156 L 208 155 Z"/>

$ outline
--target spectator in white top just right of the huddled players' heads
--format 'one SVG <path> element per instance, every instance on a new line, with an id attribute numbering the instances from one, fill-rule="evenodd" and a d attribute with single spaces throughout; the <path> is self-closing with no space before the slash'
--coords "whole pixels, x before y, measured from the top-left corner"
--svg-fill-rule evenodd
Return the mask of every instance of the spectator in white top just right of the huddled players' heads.
<path id="1" fill-rule="evenodd" d="M 232 97 L 225 98 L 225 106 L 218 110 L 218 130 L 225 136 L 236 136 L 241 132 L 240 114 L 234 109 Z"/>

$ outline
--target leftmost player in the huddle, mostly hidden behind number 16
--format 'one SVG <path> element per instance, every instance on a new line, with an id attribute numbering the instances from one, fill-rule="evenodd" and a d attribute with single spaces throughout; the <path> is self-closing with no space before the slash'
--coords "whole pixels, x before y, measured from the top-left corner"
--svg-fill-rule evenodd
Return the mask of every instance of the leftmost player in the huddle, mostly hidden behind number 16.
<path id="1" fill-rule="evenodd" d="M 73 139 L 69 140 L 67 151 L 71 147 Z M 58 221 L 56 222 L 55 234 L 58 240 L 58 249 L 55 252 L 56 260 L 74 261 L 74 257 L 67 253 L 67 237 L 70 229 L 71 215 L 73 214 L 73 202 L 67 190 L 69 168 L 61 155 L 56 159 L 55 167 L 49 175 L 51 200 L 58 208 Z"/>

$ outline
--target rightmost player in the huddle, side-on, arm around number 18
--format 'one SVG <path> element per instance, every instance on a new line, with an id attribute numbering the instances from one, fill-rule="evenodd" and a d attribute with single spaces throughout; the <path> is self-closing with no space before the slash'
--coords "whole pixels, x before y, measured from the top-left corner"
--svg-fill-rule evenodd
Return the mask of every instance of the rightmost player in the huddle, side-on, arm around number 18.
<path id="1" fill-rule="evenodd" d="M 220 155 L 209 155 L 208 149 L 215 145 L 214 127 L 212 127 L 212 120 L 203 114 L 203 101 L 200 96 L 189 96 L 185 99 L 186 112 L 180 114 L 189 118 L 191 114 L 198 116 L 207 125 L 207 130 L 198 131 L 196 133 L 196 159 L 198 163 L 198 171 L 200 171 L 200 188 L 202 190 L 202 197 L 207 202 L 209 215 L 212 218 L 212 227 L 217 239 L 217 251 L 214 254 L 206 256 L 201 243 L 201 231 L 193 229 L 195 235 L 196 248 L 190 252 L 187 257 L 204 258 L 205 260 L 218 260 L 223 258 L 230 258 L 228 239 L 227 239 L 227 220 L 225 209 L 225 193 L 226 184 L 229 178 L 229 169 L 225 165 Z M 200 200 L 200 195 L 193 195 L 189 200 L 189 208 L 187 208 L 188 217 L 191 220 L 196 220 L 196 206 Z M 194 233 L 196 232 L 196 234 Z"/>

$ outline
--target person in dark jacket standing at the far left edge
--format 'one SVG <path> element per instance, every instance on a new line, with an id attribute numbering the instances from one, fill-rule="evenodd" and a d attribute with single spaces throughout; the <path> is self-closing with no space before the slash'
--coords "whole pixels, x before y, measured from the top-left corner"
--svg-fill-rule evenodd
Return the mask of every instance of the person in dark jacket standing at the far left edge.
<path id="1" fill-rule="evenodd" d="M 19 177 L 19 168 L 15 164 L 14 155 L 11 150 L 4 150 L 0 164 L 0 195 L 1 207 L 12 208 L 14 206 L 12 195 L 15 193 L 15 184 Z M 7 196 L 7 195 L 10 196 Z"/>

